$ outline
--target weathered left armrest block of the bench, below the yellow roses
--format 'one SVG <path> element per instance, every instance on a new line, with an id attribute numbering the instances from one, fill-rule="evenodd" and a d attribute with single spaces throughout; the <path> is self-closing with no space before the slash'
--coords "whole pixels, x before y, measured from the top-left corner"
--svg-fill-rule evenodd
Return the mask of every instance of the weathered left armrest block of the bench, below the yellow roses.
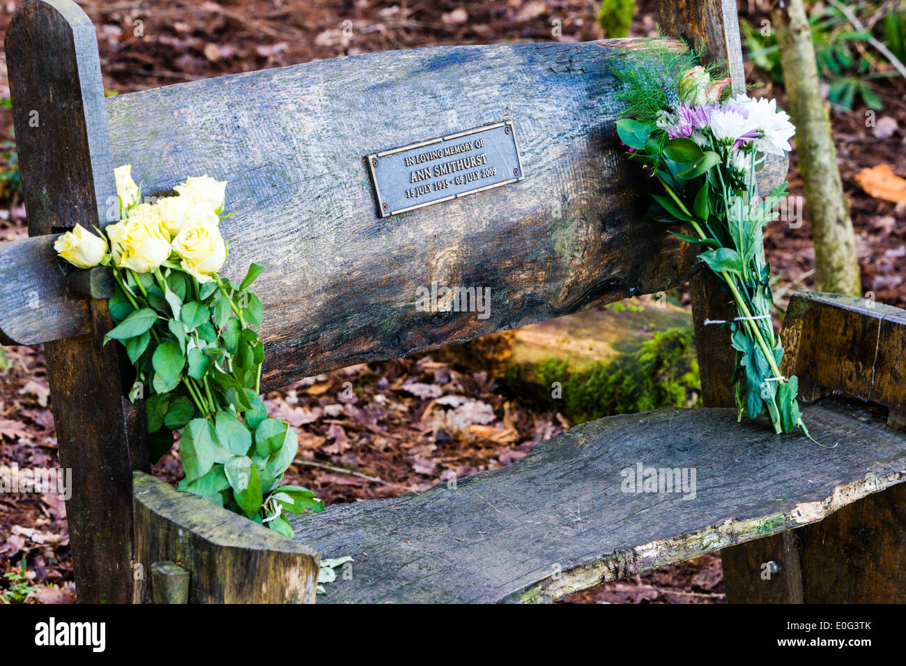
<path id="1" fill-rule="evenodd" d="M 136 561 L 186 569 L 188 603 L 314 603 L 320 557 L 311 548 L 148 474 L 136 472 L 133 487 Z M 146 582 L 136 582 L 143 602 Z"/>

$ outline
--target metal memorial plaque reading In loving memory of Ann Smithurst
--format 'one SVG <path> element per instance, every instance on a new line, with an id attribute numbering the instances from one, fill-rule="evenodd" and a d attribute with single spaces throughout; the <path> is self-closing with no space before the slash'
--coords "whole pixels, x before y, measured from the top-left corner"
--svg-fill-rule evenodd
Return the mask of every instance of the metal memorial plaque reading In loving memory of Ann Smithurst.
<path id="1" fill-rule="evenodd" d="M 384 150 L 365 160 L 381 217 L 525 178 L 513 121 Z"/>

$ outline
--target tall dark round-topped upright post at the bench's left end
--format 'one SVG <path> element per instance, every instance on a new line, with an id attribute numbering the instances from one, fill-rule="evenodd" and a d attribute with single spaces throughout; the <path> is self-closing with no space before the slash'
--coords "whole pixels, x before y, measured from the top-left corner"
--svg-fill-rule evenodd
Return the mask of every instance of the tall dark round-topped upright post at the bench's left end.
<path id="1" fill-rule="evenodd" d="M 9 24 L 5 54 L 29 235 L 99 224 L 116 190 L 91 21 L 69 0 L 29 0 Z M 42 265 L 31 268 L 46 279 L 24 284 L 35 285 L 43 314 L 62 307 L 43 287 L 65 289 L 66 269 L 48 256 L 52 244 L 53 238 L 15 244 L 40 256 Z M 0 263 L 3 256 L 6 250 Z M 129 602 L 131 470 L 148 467 L 143 410 L 124 399 L 132 380 L 116 347 L 101 347 L 112 326 L 106 301 L 76 310 L 85 320 L 67 333 L 79 334 L 44 347 L 60 466 L 72 468 L 66 513 L 76 590 L 80 602 Z"/>

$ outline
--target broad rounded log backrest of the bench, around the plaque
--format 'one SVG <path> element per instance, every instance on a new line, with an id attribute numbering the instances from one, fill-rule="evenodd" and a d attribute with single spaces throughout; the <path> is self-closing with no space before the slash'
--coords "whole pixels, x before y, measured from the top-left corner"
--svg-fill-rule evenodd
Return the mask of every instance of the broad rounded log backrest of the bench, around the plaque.
<path id="1" fill-rule="evenodd" d="M 110 98 L 114 162 L 148 194 L 226 179 L 226 275 L 268 265 L 264 385 L 396 358 L 679 285 L 694 251 L 643 221 L 612 67 L 632 40 L 368 53 Z M 516 124 L 525 180 L 378 219 L 362 156 Z M 161 122 L 162 118 L 168 119 Z M 432 282 L 490 289 L 487 319 L 423 313 Z"/>

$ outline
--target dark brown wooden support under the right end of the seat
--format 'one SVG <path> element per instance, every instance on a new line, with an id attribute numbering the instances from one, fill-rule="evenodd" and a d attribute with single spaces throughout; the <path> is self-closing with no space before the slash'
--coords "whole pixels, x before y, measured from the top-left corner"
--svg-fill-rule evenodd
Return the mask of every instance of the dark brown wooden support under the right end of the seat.
<path id="1" fill-rule="evenodd" d="M 904 603 L 906 484 L 721 557 L 729 603 Z M 780 570 L 765 580 L 772 561 Z"/>

